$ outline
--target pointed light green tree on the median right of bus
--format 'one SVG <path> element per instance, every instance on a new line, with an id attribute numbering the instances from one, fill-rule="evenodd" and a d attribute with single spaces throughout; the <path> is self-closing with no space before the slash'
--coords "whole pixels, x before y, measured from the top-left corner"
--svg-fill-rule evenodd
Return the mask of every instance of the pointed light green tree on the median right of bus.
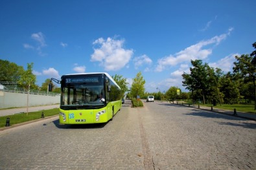
<path id="1" fill-rule="evenodd" d="M 133 98 L 137 96 L 143 96 L 145 93 L 145 85 L 146 81 L 143 79 L 141 72 L 138 72 L 136 77 L 133 79 L 132 87 L 131 87 L 131 95 Z"/>

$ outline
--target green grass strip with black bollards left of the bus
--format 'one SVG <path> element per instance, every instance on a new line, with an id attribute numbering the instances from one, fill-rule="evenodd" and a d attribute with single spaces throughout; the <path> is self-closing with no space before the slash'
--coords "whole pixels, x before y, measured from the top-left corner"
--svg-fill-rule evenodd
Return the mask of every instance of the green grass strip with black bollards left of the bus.
<path id="1" fill-rule="evenodd" d="M 28 116 L 27 113 L 20 113 L 20 114 L 13 114 L 8 116 L 0 116 L 0 127 L 5 127 L 6 119 L 10 118 L 10 126 L 15 125 L 17 123 L 24 123 L 29 122 L 31 120 L 38 120 L 41 119 L 41 113 L 43 112 L 45 117 L 54 116 L 59 114 L 59 109 L 49 109 L 44 111 L 37 111 L 37 112 L 29 112 Z"/>

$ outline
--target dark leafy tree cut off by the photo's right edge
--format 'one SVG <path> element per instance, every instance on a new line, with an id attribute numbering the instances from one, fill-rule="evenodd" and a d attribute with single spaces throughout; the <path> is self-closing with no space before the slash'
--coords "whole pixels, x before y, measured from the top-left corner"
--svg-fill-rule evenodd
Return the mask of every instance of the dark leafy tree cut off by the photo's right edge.
<path id="1" fill-rule="evenodd" d="M 253 54 L 253 53 L 251 53 Z M 252 82 L 254 89 L 254 110 L 256 110 L 256 65 L 253 61 L 253 55 L 242 54 L 235 56 L 237 62 L 234 62 L 233 72 L 237 74 L 245 83 Z"/>

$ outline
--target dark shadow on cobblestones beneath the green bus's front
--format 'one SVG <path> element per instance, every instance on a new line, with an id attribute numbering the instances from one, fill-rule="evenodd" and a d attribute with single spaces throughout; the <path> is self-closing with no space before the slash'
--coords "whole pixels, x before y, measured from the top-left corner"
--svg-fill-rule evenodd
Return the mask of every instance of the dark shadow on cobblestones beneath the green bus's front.
<path id="1" fill-rule="evenodd" d="M 59 120 L 52 121 L 58 129 L 100 129 L 108 123 L 80 124 L 80 125 L 62 125 Z"/>

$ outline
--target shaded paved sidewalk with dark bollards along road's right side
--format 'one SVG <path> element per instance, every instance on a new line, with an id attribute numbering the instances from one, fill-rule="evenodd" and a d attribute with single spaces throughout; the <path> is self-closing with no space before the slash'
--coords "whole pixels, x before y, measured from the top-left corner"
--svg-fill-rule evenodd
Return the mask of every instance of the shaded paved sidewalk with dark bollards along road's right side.
<path id="1" fill-rule="evenodd" d="M 170 103 L 172 105 L 176 105 L 175 103 Z M 181 105 L 179 103 L 179 105 Z M 186 107 L 189 107 L 188 105 L 184 105 Z M 248 120 L 255 120 L 256 121 L 256 114 L 253 114 L 253 113 L 250 113 L 250 112 L 239 112 L 239 111 L 236 111 L 236 114 L 235 114 L 235 111 L 229 111 L 229 110 L 225 110 L 225 109 L 218 109 L 218 108 L 215 108 L 213 107 L 213 110 L 211 110 L 211 107 L 205 107 L 205 106 L 202 106 L 200 105 L 200 108 L 198 108 L 198 105 L 191 105 L 190 107 L 193 107 L 195 109 L 202 109 L 204 111 L 211 111 L 211 112 L 218 112 L 220 114 L 227 114 L 227 115 L 230 115 L 230 116 L 237 116 L 239 118 L 245 118 L 245 119 L 248 119 Z"/>

